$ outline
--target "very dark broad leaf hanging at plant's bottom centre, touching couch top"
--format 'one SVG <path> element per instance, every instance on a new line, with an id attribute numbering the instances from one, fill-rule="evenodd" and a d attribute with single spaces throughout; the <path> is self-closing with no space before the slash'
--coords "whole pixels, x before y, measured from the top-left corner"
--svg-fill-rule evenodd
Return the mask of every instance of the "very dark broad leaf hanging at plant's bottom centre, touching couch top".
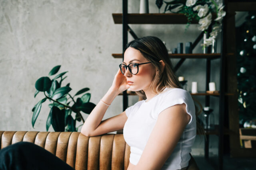
<path id="1" fill-rule="evenodd" d="M 60 110 L 58 107 L 53 106 L 51 111 L 51 122 L 54 131 L 65 131 L 65 109 Z"/>

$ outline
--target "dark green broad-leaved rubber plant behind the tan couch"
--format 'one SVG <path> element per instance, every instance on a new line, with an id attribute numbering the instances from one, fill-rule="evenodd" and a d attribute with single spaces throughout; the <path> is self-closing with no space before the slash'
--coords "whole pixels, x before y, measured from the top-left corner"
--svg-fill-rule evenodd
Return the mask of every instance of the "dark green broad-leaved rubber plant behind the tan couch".
<path id="1" fill-rule="evenodd" d="M 56 74 L 60 70 L 60 65 L 55 66 L 50 70 L 49 76 Z M 54 131 L 78 131 L 78 127 L 76 127 L 76 121 L 81 121 L 84 119 L 81 115 L 81 111 L 90 114 L 92 109 L 96 106 L 95 104 L 90 102 L 91 94 L 86 93 L 89 88 L 82 88 L 72 97 L 69 92 L 72 90 L 68 83 L 66 86 L 61 87 L 62 81 L 67 77 L 64 76 L 66 72 L 62 72 L 52 78 L 49 77 L 41 77 L 35 83 L 36 92 L 34 94 L 34 98 L 37 96 L 39 92 L 43 92 L 45 98 L 40 100 L 32 109 L 32 127 L 36 122 L 36 119 L 40 113 L 42 103 L 46 100 L 51 102 L 48 104 L 50 107 L 50 112 L 48 114 L 48 118 L 46 120 L 46 131 L 49 130 L 49 127 L 52 125 Z M 83 94 L 81 98 L 74 99 L 75 96 Z M 71 106 L 70 106 L 71 104 Z M 74 117 L 72 116 L 74 114 Z M 83 124 L 82 124 L 83 125 Z"/>

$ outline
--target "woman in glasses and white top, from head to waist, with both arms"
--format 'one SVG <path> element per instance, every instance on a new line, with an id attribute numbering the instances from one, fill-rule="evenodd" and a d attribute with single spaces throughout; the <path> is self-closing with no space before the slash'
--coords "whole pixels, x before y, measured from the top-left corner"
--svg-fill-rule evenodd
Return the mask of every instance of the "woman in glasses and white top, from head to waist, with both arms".
<path id="1" fill-rule="evenodd" d="M 104 121 L 114 98 L 124 90 L 135 91 L 141 100 Z M 86 119 L 86 136 L 124 129 L 130 146 L 128 170 L 186 169 L 196 137 L 195 106 L 172 71 L 165 45 L 157 37 L 131 41 L 112 86 Z"/>

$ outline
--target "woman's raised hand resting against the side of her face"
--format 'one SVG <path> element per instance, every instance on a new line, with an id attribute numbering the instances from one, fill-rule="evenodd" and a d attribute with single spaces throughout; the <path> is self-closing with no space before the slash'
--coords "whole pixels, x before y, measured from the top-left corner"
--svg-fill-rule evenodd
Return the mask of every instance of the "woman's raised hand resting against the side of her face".
<path id="1" fill-rule="evenodd" d="M 120 69 L 118 69 L 118 72 L 115 75 L 115 78 L 112 83 L 112 88 L 118 91 L 118 94 L 123 92 L 124 90 L 127 90 L 130 87 L 130 85 L 126 82 L 126 77 Z"/>

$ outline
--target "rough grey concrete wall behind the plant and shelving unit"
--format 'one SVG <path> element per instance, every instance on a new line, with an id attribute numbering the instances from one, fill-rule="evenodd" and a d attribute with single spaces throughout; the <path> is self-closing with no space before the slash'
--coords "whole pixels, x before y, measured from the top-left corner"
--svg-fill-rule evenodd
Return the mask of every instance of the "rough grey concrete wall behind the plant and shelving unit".
<path id="1" fill-rule="evenodd" d="M 139 12 L 139 0 L 128 2 L 128 12 Z M 164 6 L 161 12 L 163 12 Z M 157 13 L 154 0 L 150 0 L 150 13 Z M 60 72 L 68 71 L 64 84 L 70 82 L 70 94 L 88 87 L 91 102 L 97 104 L 112 84 L 118 64 L 112 53 L 122 53 L 122 25 L 115 25 L 112 13 L 122 13 L 121 0 L 0 0 L 0 130 L 46 131 L 50 111 L 48 102 L 42 105 L 34 129 L 31 125 L 32 108 L 43 98 L 34 99 L 34 84 L 50 69 L 61 65 Z M 194 41 L 199 35 L 198 25 L 130 25 L 138 37 L 153 35 L 166 42 L 168 49 L 179 42 Z M 132 37 L 129 35 L 129 41 Z M 220 43 L 218 42 L 218 45 Z M 220 50 L 220 48 L 218 48 Z M 202 53 L 198 45 L 193 53 Z M 172 59 L 173 64 L 178 59 Z M 206 60 L 188 59 L 177 76 L 205 90 Z M 219 88 L 219 60 L 212 62 L 211 81 Z M 204 97 L 196 97 L 204 106 Z M 138 101 L 130 96 L 129 105 Z M 211 98 L 218 120 L 218 98 Z M 122 112 L 122 96 L 117 96 L 103 119 Z M 87 115 L 83 114 L 86 119 Z M 80 125 L 81 122 L 77 122 Z M 80 130 L 80 128 L 79 128 Z M 50 127 L 50 131 L 53 131 Z M 217 139 L 214 136 L 211 138 Z M 212 140 L 212 141 L 214 141 Z M 203 154 L 203 138 L 196 139 L 194 154 Z M 216 154 L 216 142 L 210 152 Z"/>

